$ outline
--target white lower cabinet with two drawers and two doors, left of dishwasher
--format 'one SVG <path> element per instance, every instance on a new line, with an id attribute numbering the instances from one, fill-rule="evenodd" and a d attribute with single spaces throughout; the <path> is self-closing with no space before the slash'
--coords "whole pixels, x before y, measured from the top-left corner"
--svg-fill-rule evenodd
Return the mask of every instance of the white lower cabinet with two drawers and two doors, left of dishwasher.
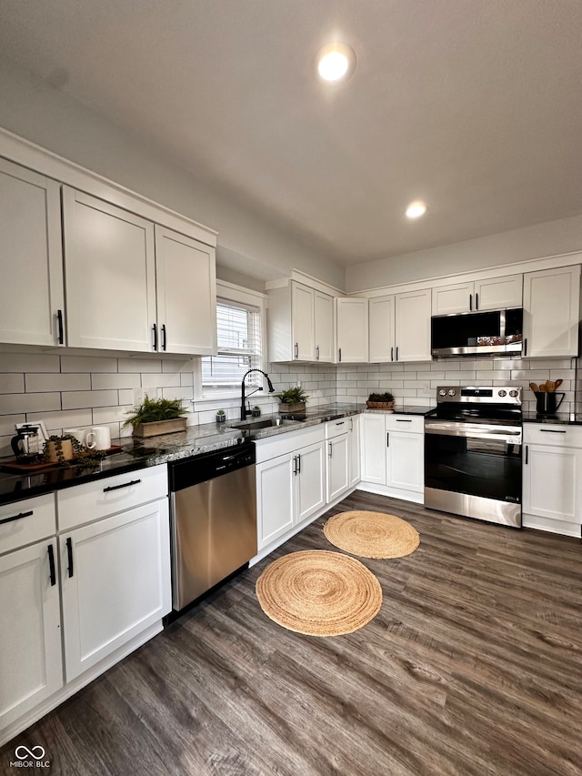
<path id="1" fill-rule="evenodd" d="M 0 506 L 0 600 L 2 745 L 162 630 L 166 465 Z"/>

